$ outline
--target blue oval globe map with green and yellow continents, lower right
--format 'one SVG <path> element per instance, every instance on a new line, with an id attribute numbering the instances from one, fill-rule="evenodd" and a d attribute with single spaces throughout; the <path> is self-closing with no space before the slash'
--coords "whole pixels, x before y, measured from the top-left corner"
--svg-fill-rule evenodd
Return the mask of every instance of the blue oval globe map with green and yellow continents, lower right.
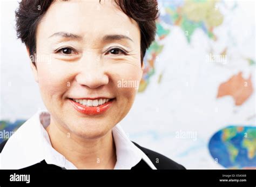
<path id="1" fill-rule="evenodd" d="M 228 169 L 256 169 L 256 129 L 230 126 L 215 133 L 209 149 L 213 158 Z"/>

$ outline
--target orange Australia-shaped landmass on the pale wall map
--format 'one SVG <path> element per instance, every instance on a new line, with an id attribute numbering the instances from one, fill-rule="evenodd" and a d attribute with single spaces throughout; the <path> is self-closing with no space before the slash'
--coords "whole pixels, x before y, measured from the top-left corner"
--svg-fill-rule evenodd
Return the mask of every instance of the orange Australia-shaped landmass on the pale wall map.
<path id="1" fill-rule="evenodd" d="M 242 105 L 252 95 L 253 87 L 251 75 L 248 79 L 242 77 L 242 73 L 233 75 L 228 81 L 220 84 L 217 98 L 230 95 L 235 101 L 235 105 Z"/>

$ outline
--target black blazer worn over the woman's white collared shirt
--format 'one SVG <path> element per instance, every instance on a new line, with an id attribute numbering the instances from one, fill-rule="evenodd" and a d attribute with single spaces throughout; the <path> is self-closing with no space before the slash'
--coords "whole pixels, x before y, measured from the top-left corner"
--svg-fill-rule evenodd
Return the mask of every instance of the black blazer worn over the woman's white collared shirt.
<path id="1" fill-rule="evenodd" d="M 0 144 L 0 153 L 2 152 L 5 143 L 7 142 L 7 140 L 5 140 L 4 142 L 2 142 Z M 137 143 L 134 143 L 135 146 L 137 146 L 140 150 L 142 150 L 147 157 L 150 158 L 151 162 L 154 164 L 154 166 L 157 169 L 186 169 L 183 165 L 180 165 L 174 161 L 172 161 L 170 158 L 167 158 L 164 155 L 161 155 L 159 153 L 156 153 L 150 149 L 146 149 L 144 147 L 139 146 Z M 53 170 L 59 170 L 59 169 L 65 169 L 65 168 L 60 168 L 57 165 L 53 165 L 53 164 L 47 164 L 45 161 L 39 162 L 35 165 L 31 165 L 28 168 L 24 168 L 23 170 L 30 170 L 30 169 L 53 169 Z M 147 165 L 147 163 L 143 160 L 141 160 L 137 165 L 135 165 L 134 167 L 131 168 L 131 170 L 133 169 L 151 169 L 149 167 L 149 165 Z"/>

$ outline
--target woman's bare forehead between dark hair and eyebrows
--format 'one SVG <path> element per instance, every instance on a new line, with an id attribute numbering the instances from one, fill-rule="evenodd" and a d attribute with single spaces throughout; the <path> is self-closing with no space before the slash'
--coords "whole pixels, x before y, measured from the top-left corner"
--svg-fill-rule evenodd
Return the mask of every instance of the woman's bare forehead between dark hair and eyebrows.
<path id="1" fill-rule="evenodd" d="M 56 1 L 38 25 L 39 34 L 56 32 L 82 34 L 96 38 L 106 34 L 129 34 L 138 39 L 138 24 L 111 0 Z"/>

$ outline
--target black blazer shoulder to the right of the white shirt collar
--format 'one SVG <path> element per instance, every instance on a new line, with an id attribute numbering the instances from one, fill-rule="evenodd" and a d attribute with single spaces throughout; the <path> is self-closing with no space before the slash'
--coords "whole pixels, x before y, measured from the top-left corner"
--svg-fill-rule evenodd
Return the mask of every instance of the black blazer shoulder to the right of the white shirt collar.
<path id="1" fill-rule="evenodd" d="M 142 150 L 147 157 L 150 158 L 151 162 L 157 169 L 186 169 L 183 165 L 174 162 L 170 158 L 167 158 L 164 155 L 161 155 L 155 151 L 139 146 L 139 144 L 132 142 L 140 150 Z"/>

